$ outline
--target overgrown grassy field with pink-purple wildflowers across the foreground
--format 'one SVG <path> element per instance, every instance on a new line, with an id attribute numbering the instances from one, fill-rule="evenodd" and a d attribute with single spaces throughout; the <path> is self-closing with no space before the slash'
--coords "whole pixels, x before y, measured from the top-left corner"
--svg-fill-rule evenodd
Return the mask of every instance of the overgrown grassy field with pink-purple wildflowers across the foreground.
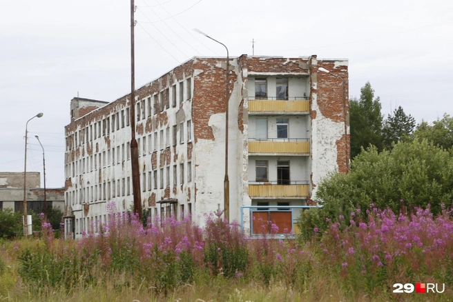
<path id="1" fill-rule="evenodd" d="M 453 218 L 444 210 L 369 209 L 305 241 L 247 239 L 235 223 L 168 219 L 162 228 L 110 214 L 79 241 L 0 243 L 0 301 L 449 301 Z M 275 229 L 275 228 L 274 228 Z M 442 293 L 395 294 L 394 283 Z"/>

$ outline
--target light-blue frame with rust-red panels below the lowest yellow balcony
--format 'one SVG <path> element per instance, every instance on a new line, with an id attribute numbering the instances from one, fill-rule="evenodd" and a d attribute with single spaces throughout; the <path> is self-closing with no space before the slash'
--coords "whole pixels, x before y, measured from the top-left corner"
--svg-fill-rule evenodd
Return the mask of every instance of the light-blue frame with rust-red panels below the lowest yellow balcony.
<path id="1" fill-rule="evenodd" d="M 296 219 L 301 210 L 317 205 L 242 205 L 241 227 L 250 236 L 292 237 L 300 234 Z M 244 217 L 250 217 L 246 223 Z M 247 219 L 249 220 L 249 219 Z"/>

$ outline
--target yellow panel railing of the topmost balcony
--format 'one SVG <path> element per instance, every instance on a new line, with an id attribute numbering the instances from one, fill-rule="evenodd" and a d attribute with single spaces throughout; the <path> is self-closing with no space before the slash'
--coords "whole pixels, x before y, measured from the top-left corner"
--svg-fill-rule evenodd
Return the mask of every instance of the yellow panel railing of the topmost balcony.
<path id="1" fill-rule="evenodd" d="M 249 112 L 308 112 L 309 101 L 307 99 L 293 100 L 271 100 L 253 99 L 249 100 Z"/>

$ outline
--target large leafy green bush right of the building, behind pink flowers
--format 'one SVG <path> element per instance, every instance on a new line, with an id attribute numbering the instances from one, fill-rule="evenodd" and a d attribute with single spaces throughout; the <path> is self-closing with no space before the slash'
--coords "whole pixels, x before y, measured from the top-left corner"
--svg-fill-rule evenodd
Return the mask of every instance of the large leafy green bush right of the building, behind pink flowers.
<path id="1" fill-rule="evenodd" d="M 442 203 L 450 205 L 452 199 L 452 154 L 426 140 L 400 141 L 392 152 L 378 152 L 376 147 L 364 150 L 352 161 L 349 174 L 336 172 L 324 179 L 316 193 L 323 208 L 303 212 L 299 228 L 310 236 L 315 227 L 327 226 L 327 218 L 343 215 L 349 221 L 353 210 L 365 212 L 371 203 L 396 213 L 402 204 L 421 208 L 430 204 L 436 214 Z"/>

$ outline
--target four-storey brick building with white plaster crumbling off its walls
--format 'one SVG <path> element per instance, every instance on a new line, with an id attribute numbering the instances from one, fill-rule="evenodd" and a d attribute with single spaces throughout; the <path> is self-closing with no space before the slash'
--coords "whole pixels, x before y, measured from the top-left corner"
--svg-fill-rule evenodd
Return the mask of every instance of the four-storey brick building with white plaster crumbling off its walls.
<path id="1" fill-rule="evenodd" d="M 142 205 L 153 219 L 223 209 L 226 67 L 195 57 L 136 90 Z M 242 55 L 229 70 L 229 218 L 243 205 L 312 204 L 322 177 L 349 168 L 347 61 Z M 131 210 L 129 97 L 71 101 L 66 236 L 104 223 L 108 202 Z"/>

